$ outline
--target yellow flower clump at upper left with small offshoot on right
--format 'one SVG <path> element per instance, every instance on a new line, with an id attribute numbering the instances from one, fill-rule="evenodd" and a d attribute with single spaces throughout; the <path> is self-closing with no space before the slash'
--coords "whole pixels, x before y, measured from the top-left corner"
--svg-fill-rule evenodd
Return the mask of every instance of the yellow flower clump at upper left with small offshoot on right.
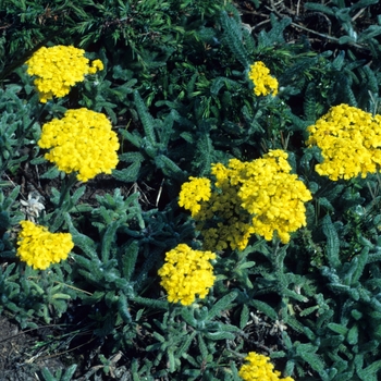
<path id="1" fill-rule="evenodd" d="M 103 70 L 100 60 L 95 60 L 89 65 L 89 60 L 84 54 L 83 49 L 59 45 L 42 47 L 26 61 L 27 73 L 37 76 L 34 83 L 42 103 L 53 97 L 64 97 L 71 86 L 84 81 L 85 75 Z"/>

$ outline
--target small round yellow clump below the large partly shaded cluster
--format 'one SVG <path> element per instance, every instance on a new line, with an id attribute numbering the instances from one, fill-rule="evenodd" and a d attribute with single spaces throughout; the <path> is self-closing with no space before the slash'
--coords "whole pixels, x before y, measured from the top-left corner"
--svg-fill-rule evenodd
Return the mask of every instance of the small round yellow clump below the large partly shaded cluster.
<path id="1" fill-rule="evenodd" d="M 214 253 L 193 250 L 185 244 L 168 251 L 165 263 L 158 271 L 168 300 L 189 306 L 195 302 L 196 294 L 205 298 L 216 279 L 210 259 L 216 259 Z"/>

